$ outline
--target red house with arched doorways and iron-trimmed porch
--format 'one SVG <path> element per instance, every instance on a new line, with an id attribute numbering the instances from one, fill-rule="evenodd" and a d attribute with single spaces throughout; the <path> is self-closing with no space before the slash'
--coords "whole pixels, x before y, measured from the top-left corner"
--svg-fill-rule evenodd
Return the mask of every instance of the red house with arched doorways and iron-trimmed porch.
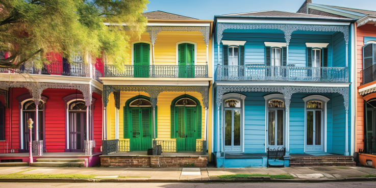
<path id="1" fill-rule="evenodd" d="M 29 165 L 29 118 L 34 121 L 31 165 L 99 163 L 103 62 L 56 59 L 43 68 L 30 61 L 18 70 L 0 69 L 0 166 Z"/>

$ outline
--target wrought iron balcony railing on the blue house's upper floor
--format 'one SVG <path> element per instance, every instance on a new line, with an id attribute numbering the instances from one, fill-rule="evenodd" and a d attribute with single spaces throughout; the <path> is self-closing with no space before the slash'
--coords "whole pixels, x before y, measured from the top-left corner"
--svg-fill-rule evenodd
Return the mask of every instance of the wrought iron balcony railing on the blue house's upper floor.
<path id="1" fill-rule="evenodd" d="M 231 81 L 348 82 L 348 69 L 265 66 L 265 64 L 218 65 L 214 76 L 216 80 Z"/>

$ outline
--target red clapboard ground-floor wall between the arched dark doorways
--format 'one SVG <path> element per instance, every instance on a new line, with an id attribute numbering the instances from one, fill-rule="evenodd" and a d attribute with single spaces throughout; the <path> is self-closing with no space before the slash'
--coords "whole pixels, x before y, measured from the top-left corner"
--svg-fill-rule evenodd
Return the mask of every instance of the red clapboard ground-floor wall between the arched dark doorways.
<path id="1" fill-rule="evenodd" d="M 10 89 L 12 90 L 12 89 Z M 81 93 L 80 91 L 77 91 Z M 29 90 L 24 88 L 13 88 L 11 102 L 12 108 L 12 148 L 20 148 L 19 146 L 19 109 L 16 97 Z M 45 104 L 45 149 L 47 152 L 64 152 L 65 149 L 65 103 L 63 97 L 76 93 L 76 90 L 65 89 L 46 89 L 42 95 L 48 97 Z M 101 95 L 93 93 L 94 103 L 94 140 L 96 142 L 96 151 L 100 151 L 102 145 L 102 99 Z M 4 97 L 0 96 L 0 101 L 4 104 Z M 6 109 L 5 115 L 5 137 L 6 143 L 10 146 L 10 130 L 9 130 L 9 110 Z M 5 143 L 0 143 L 0 150 L 5 147 Z M 10 148 L 10 147 L 9 147 Z M 0 151 L 3 152 L 3 151 Z"/>

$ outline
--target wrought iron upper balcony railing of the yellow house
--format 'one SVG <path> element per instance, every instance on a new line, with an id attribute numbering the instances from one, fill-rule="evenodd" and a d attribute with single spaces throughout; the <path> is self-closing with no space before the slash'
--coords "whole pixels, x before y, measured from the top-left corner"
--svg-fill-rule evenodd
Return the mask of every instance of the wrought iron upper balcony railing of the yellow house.
<path id="1" fill-rule="evenodd" d="M 208 77 L 207 65 L 124 65 L 122 71 L 105 66 L 105 77 Z"/>

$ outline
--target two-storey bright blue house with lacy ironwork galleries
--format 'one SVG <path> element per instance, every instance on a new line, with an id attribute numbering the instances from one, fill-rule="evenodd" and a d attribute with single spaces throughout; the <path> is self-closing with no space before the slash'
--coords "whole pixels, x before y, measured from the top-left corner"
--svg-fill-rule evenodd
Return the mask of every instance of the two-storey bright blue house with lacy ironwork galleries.
<path id="1" fill-rule="evenodd" d="M 282 11 L 214 17 L 218 168 L 355 165 L 349 156 L 354 21 Z M 268 150 L 283 149 L 285 157 L 267 159 Z"/>

